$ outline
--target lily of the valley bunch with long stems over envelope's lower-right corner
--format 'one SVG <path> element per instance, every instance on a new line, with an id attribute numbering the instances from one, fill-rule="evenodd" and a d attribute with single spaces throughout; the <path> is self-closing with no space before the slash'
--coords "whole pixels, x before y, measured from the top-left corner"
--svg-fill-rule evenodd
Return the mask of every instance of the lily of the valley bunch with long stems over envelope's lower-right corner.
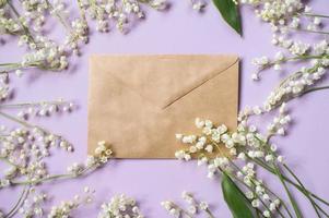
<path id="1" fill-rule="evenodd" d="M 301 210 L 287 189 L 289 185 L 305 195 L 319 217 L 320 214 L 328 216 L 328 213 L 322 208 L 322 204 L 329 206 L 328 202 L 305 187 L 290 169 L 283 156 L 278 153 L 277 145 L 270 142 L 270 138 L 275 135 L 284 135 L 286 125 L 291 122 L 291 117 L 285 110 L 285 104 L 281 106 L 279 111 L 279 116 L 268 125 L 266 134 L 261 134 L 255 125 L 247 123 L 249 116 L 258 113 L 259 108 L 242 112 L 235 132 L 231 132 L 223 124 L 214 125 L 210 120 L 196 119 L 196 126 L 201 130 L 201 134 L 177 134 L 176 137 L 189 147 L 176 152 L 175 155 L 180 160 L 190 160 L 191 157 L 196 157 L 198 158 L 198 166 L 208 165 L 209 178 L 213 178 L 215 174 L 228 177 L 234 182 L 230 185 L 234 185 L 234 189 L 237 185 L 238 191 L 247 199 L 247 205 L 254 208 L 254 215 L 301 217 Z M 230 154 L 224 153 L 223 148 L 227 149 Z M 216 156 L 214 157 L 213 154 Z M 257 175 L 257 166 L 278 177 L 286 190 L 291 207 Z M 231 187 L 228 190 L 223 189 L 224 196 L 230 190 Z M 228 204 L 228 206 L 232 205 Z M 237 213 L 232 210 L 233 214 Z"/>

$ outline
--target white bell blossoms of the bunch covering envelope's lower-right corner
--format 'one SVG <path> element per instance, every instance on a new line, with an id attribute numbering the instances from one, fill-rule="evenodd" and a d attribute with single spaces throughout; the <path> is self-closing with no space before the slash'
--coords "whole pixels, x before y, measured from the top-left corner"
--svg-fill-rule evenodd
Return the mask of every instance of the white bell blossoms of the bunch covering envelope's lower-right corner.
<path id="1" fill-rule="evenodd" d="M 259 113 L 257 109 L 255 112 Z M 283 157 L 278 155 L 277 146 L 269 143 L 269 138 L 282 135 L 291 118 L 283 104 L 279 116 L 269 124 L 268 135 L 263 136 L 255 125 L 247 124 L 248 116 L 249 110 L 243 111 L 236 132 L 230 132 L 223 124 L 214 125 L 209 120 L 196 119 L 196 126 L 201 129 L 202 134 L 179 134 L 178 138 L 188 144 L 189 148 L 178 150 L 176 157 L 184 160 L 198 158 L 198 166 L 208 166 L 209 178 L 222 172 L 230 174 L 234 181 L 247 187 L 245 195 L 252 207 L 262 210 L 263 217 L 271 217 L 281 213 L 281 199 L 258 178 L 256 165 L 261 162 L 273 167 L 283 162 Z"/>

